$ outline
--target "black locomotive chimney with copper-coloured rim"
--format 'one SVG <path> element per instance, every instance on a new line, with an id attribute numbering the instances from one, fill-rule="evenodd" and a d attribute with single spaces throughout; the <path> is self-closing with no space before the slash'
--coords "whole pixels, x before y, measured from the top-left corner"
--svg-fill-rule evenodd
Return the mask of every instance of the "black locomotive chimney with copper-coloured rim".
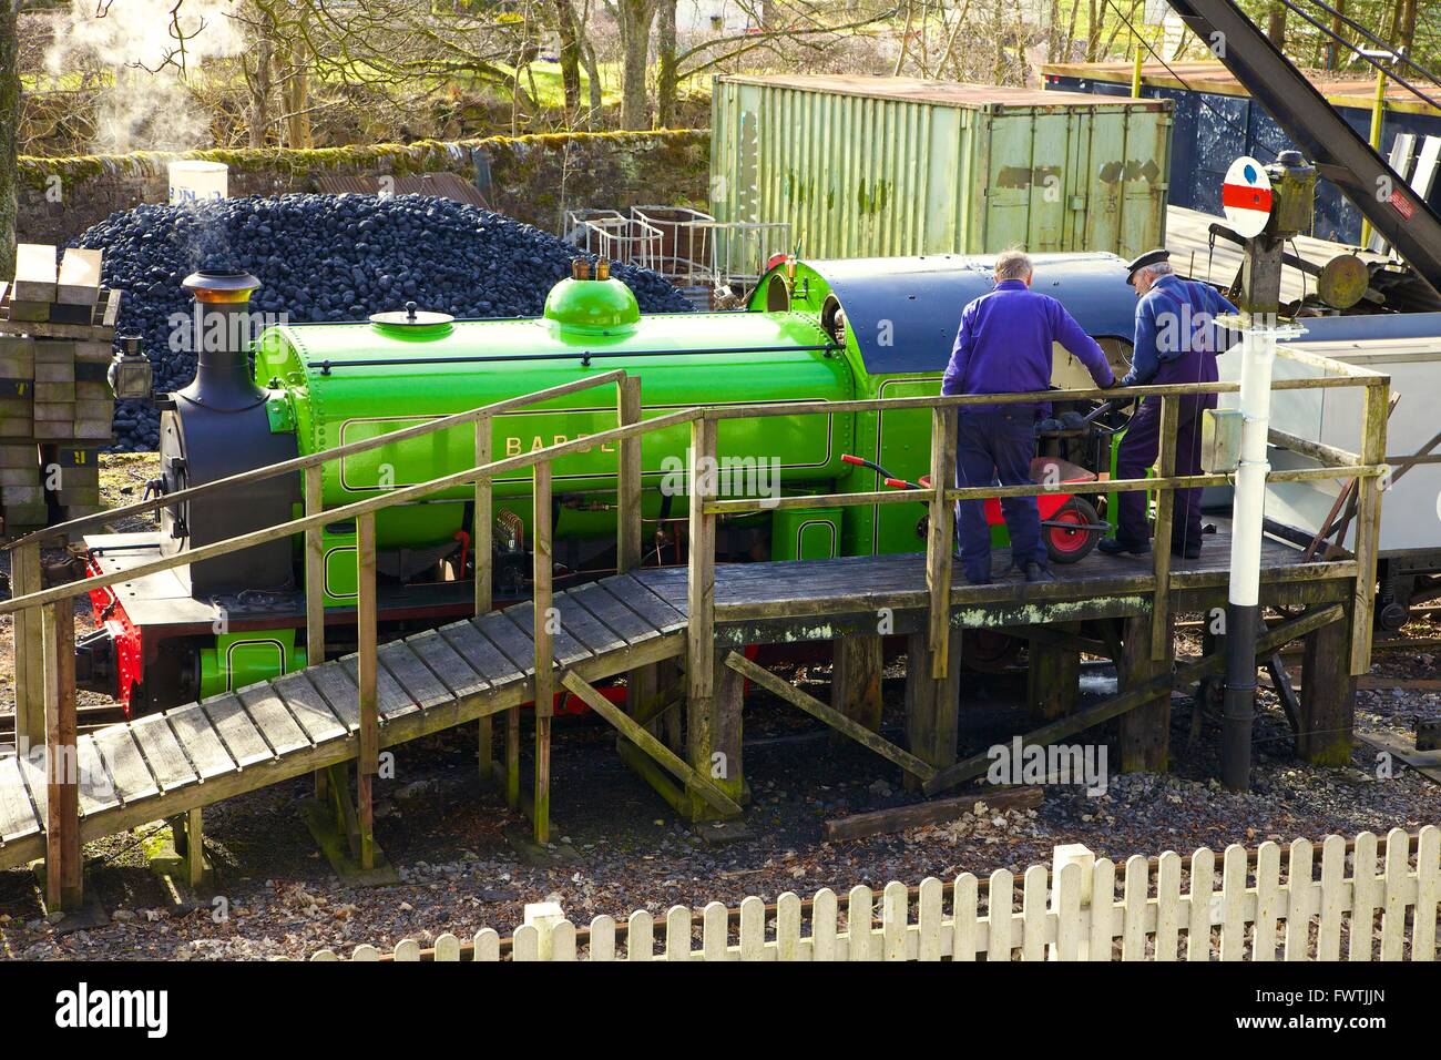
<path id="1" fill-rule="evenodd" d="M 251 378 L 249 306 L 261 281 L 245 270 L 205 270 L 184 278 L 195 297 L 195 379 L 180 391 L 197 405 L 220 412 L 265 401 Z"/>

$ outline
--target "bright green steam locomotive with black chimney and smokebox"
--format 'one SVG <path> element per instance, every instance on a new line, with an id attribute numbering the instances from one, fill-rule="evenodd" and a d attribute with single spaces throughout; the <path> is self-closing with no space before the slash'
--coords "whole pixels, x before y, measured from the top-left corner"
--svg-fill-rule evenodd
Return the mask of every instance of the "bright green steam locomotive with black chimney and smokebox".
<path id="1" fill-rule="evenodd" d="M 788 261 L 757 286 L 744 310 L 641 314 L 634 294 L 578 262 L 535 319 L 452 320 L 406 306 L 366 323 L 280 324 L 251 343 L 200 346 L 195 381 L 160 398 L 161 495 L 294 456 L 383 436 L 442 415 L 624 368 L 641 378 L 643 417 L 693 405 L 813 402 L 816 411 L 725 420 L 719 456 L 759 469 L 745 489 L 767 495 L 875 489 L 859 454 L 916 477 L 929 459 L 922 411 L 850 414 L 830 402 L 935 394 L 961 307 L 991 288 L 993 260 L 935 255 Z M 1059 299 L 1117 363 L 1131 335 L 1134 293 L 1110 254 L 1035 258 L 1038 290 Z M 196 327 L 233 336 L 258 283 L 197 273 Z M 246 349 L 249 346 L 249 349 Z M 1053 379 L 1081 384 L 1056 350 Z M 617 425 L 607 388 L 582 391 L 493 420 L 500 457 Z M 684 503 L 663 489 L 682 467 L 683 427 L 643 443 L 644 562 L 684 562 Z M 1075 456 L 1075 454 L 1068 454 Z M 1101 454 L 1092 460 L 1104 461 Z M 470 428 L 382 446 L 324 466 L 327 508 L 474 464 Z M 1097 466 L 1092 463 L 1091 466 Z M 605 447 L 555 464 L 556 581 L 614 568 L 615 454 Z M 732 489 L 732 493 L 738 492 Z M 745 495 L 744 492 L 741 495 Z M 376 516 L 380 622 L 434 626 L 468 613 L 476 564 L 490 564 L 497 599 L 527 591 L 529 476 L 494 482 L 491 555 L 477 557 L 471 490 L 386 508 Z M 758 511 L 728 518 L 718 560 L 784 560 L 924 548 L 918 513 L 902 505 Z M 271 526 L 301 511 L 298 476 L 219 490 L 163 509 L 159 531 L 89 535 L 92 571 L 124 571 Z M 163 575 L 99 590 L 98 630 L 78 646 L 78 679 L 127 710 L 146 711 L 242 688 L 305 665 L 301 541 L 280 539 Z M 356 528 L 324 531 L 327 624 L 339 648 L 356 601 Z"/>

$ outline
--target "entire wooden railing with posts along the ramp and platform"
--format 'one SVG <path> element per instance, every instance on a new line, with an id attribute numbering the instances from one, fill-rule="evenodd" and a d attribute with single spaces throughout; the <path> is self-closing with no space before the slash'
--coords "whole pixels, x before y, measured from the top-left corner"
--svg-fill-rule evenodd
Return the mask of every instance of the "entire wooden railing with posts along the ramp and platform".
<path id="1" fill-rule="evenodd" d="M 1290 352 L 1278 352 L 1278 356 L 1288 358 Z M 1349 453 L 1334 447 L 1317 447 L 1313 450 L 1319 467 L 1271 472 L 1271 482 L 1297 482 L 1308 479 L 1355 479 L 1357 483 L 1357 522 L 1356 522 L 1356 588 L 1353 599 L 1353 640 L 1352 640 L 1352 672 L 1363 672 L 1369 668 L 1370 656 L 1370 607 L 1373 580 L 1366 575 L 1375 565 L 1376 539 L 1379 532 L 1380 487 L 1378 477 L 1385 473 L 1385 428 L 1386 428 L 1386 395 L 1389 376 L 1370 372 L 1368 369 L 1324 361 L 1311 355 L 1294 356 L 1291 359 L 1304 361 L 1314 368 L 1327 372 L 1320 378 L 1310 379 L 1278 379 L 1274 389 L 1311 389 L 1331 387 L 1362 387 L 1366 391 L 1363 402 L 1362 423 L 1362 451 Z M 539 401 L 545 401 L 579 389 L 617 384 L 617 417 L 618 425 L 563 443 L 556 443 L 545 449 L 522 453 L 501 460 L 491 459 L 491 417 L 499 412 L 523 408 Z M 1179 401 L 1189 395 L 1200 394 L 1229 394 L 1235 392 L 1235 384 L 1172 384 L 1136 387 L 1127 391 L 1131 398 L 1157 398 L 1161 402 L 1161 460 L 1159 474 L 1150 479 L 1121 479 L 1098 483 L 1098 492 L 1123 490 L 1157 490 L 1156 538 L 1166 541 L 1170 536 L 1173 515 L 1173 499 L 1176 489 L 1190 489 L 1206 485 L 1223 485 L 1226 474 L 1177 476 L 1172 453 L 1174 451 Z M 1007 487 L 971 487 L 954 489 L 942 483 L 950 480 L 955 466 L 957 446 L 957 417 L 951 414 L 965 405 L 994 405 L 1038 401 L 1082 401 L 1115 397 L 1111 391 L 1095 388 L 1042 391 L 1027 394 L 986 394 L 986 395 L 954 395 L 954 397 L 916 397 L 916 398 L 873 398 L 860 401 L 837 401 L 824 405 L 826 415 L 863 412 L 863 411 L 901 411 L 901 410 L 929 410 L 932 417 L 931 430 L 931 482 L 929 489 L 909 490 L 905 493 L 840 493 L 813 495 L 800 498 L 781 498 L 768 508 L 818 508 L 818 506 L 857 506 L 899 503 L 901 500 L 921 500 L 929 508 L 927 532 L 927 588 L 929 593 L 927 643 L 931 653 L 931 673 L 944 678 L 950 661 L 947 658 L 950 642 L 950 607 L 951 607 L 951 575 L 954 548 L 954 503 L 991 496 L 1039 496 L 1056 486 L 1007 486 Z M 624 573 L 640 565 L 641 561 L 641 438 L 646 434 L 676 427 L 690 425 L 690 453 L 687 460 L 686 496 L 689 499 L 689 561 L 687 561 L 687 600 L 689 620 L 686 627 L 687 665 L 686 665 L 686 695 L 687 715 L 693 720 L 689 743 L 689 757 L 692 769 L 708 774 L 710 760 L 709 717 L 715 697 L 716 666 L 715 666 L 715 570 L 716 570 L 716 525 L 722 513 L 751 511 L 757 502 L 746 499 L 722 499 L 718 496 L 718 425 L 723 420 L 736 418 L 769 418 L 780 415 L 816 415 L 820 412 L 814 402 L 784 402 L 764 407 L 693 407 L 677 412 L 657 415 L 650 420 L 641 417 L 640 378 L 623 371 L 599 374 L 591 379 L 565 384 L 562 387 L 539 391 L 523 398 L 486 405 L 467 412 L 403 428 L 379 438 L 353 443 L 307 457 L 288 460 L 256 472 L 248 472 L 229 479 L 180 490 L 151 502 L 130 505 L 125 509 L 111 511 L 99 516 L 72 521 L 56 526 L 49 532 L 30 535 L 17 542 L 16 565 L 16 594 L 0 603 L 0 614 L 16 614 L 14 637 L 17 669 L 20 659 L 26 661 L 26 695 L 39 694 L 45 704 L 45 743 L 52 760 L 65 760 L 62 756 L 69 750 L 69 760 L 73 760 L 75 744 L 75 673 L 73 673 L 73 606 L 68 601 L 76 596 L 91 593 L 97 588 L 114 586 L 148 574 L 174 570 L 192 562 L 209 560 L 245 548 L 252 548 L 282 536 L 295 534 L 305 535 L 305 614 L 307 637 L 310 639 L 310 661 L 318 663 L 324 661 L 324 609 L 320 573 L 320 531 L 324 525 L 337 521 L 356 521 L 357 528 L 357 583 L 359 596 L 356 607 L 357 652 L 359 652 L 359 754 L 357 754 L 357 809 L 362 834 L 362 864 L 370 860 L 373 844 L 373 822 L 370 813 L 370 782 L 379 767 L 379 717 L 378 717 L 378 588 L 376 588 L 376 548 L 375 548 L 375 515 L 386 508 L 422 500 L 431 495 L 451 490 L 460 486 L 474 489 L 476 512 L 476 541 L 477 557 L 490 554 L 491 531 L 491 486 L 497 476 L 530 469 L 532 473 L 532 541 L 533 541 L 533 642 L 535 642 L 535 793 L 532 802 L 532 821 L 537 841 L 546 841 L 549 835 L 549 750 L 550 750 L 550 715 L 553 712 L 553 697 L 559 676 L 553 663 L 553 632 L 558 627 L 553 607 L 552 586 L 552 464 L 558 459 L 578 453 L 592 451 L 597 447 L 615 443 L 617 449 L 617 568 Z M 421 437 L 437 430 L 473 423 L 476 428 L 476 464 L 465 470 L 440 476 L 422 483 L 403 486 L 383 495 L 357 500 L 339 508 L 324 509 L 321 500 L 321 470 L 327 461 L 343 459 L 357 451 L 395 444 L 414 437 Z M 78 581 L 56 586 L 53 588 L 40 587 L 39 547 L 40 542 L 53 538 L 55 534 L 79 526 L 102 525 L 118 518 L 121 513 L 138 513 L 154 511 L 156 508 L 173 505 L 182 499 L 200 496 L 215 489 L 235 486 L 258 479 L 271 477 L 287 472 L 300 470 L 304 477 L 305 513 L 298 519 L 290 519 L 274 526 L 249 531 L 225 541 L 218 541 L 200 548 L 180 552 L 171 557 L 138 564 L 125 571 L 99 574 L 81 578 Z M 1154 564 L 1154 603 L 1153 622 L 1161 632 L 1170 619 L 1169 588 L 1170 588 L 1170 551 L 1167 548 L 1153 549 Z M 477 561 L 474 606 L 477 614 L 490 610 L 493 586 L 488 567 Z M 1169 639 L 1153 637 L 1154 658 L 1161 659 L 1169 655 Z M 39 666 L 35 663 L 39 662 Z M 17 672 L 17 685 L 20 675 Z M 20 691 L 17 688 L 17 691 Z M 17 697 L 20 702 L 20 697 Z M 17 720 L 19 720 L 17 712 Z M 481 763 L 487 763 L 491 753 L 490 720 L 484 718 L 480 730 Z M 19 736 L 19 734 L 17 734 Z M 506 798 L 512 806 L 520 805 L 519 792 L 519 740 L 520 720 L 519 708 L 512 708 L 506 720 L 506 751 L 504 777 Z M 19 743 L 19 741 L 17 741 Z M 48 769 L 48 808 L 46 808 L 46 844 L 48 858 L 52 867 L 61 871 L 50 873 L 48 887 L 55 887 L 55 898 L 63 901 L 65 888 L 79 885 L 79 826 L 78 799 L 73 776 L 66 776 L 63 769 Z"/>

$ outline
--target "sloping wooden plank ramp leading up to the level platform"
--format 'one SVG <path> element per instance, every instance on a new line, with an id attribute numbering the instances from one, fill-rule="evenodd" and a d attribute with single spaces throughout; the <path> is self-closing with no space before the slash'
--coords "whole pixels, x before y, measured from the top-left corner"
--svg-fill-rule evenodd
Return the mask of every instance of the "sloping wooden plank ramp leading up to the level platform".
<path id="1" fill-rule="evenodd" d="M 556 666 L 599 681 L 684 652 L 686 601 L 630 574 L 558 593 Z M 535 695 L 529 603 L 379 649 L 380 746 Z M 359 753 L 359 656 L 110 725 L 76 741 L 81 839 L 208 806 Z M 0 759 L 0 870 L 45 857 L 45 770 Z"/>

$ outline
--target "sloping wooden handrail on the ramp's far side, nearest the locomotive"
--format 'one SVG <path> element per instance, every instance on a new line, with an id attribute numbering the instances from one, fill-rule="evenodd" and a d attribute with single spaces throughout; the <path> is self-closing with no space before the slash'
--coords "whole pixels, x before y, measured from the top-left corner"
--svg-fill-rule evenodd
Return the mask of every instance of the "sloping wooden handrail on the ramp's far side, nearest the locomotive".
<path id="1" fill-rule="evenodd" d="M 450 430 L 451 427 L 460 427 L 468 423 L 480 423 L 486 417 L 501 415 L 504 412 L 514 411 L 517 408 L 526 408 L 529 405 L 540 404 L 542 401 L 550 401 L 552 398 L 563 398 L 569 394 L 576 394 L 579 391 L 592 389 L 595 387 L 604 387 L 610 382 L 620 382 L 625 378 L 624 369 L 614 369 L 610 372 L 602 372 L 601 375 L 594 375 L 588 379 L 574 379 L 572 382 L 563 382 L 556 387 L 548 387 L 543 391 L 536 391 L 535 394 L 525 394 L 514 398 L 504 398 L 503 401 L 494 401 L 488 405 L 480 405 L 477 408 L 465 410 L 464 412 L 452 412 L 451 415 L 444 415 L 438 420 L 428 420 L 425 423 L 414 424 L 412 427 L 402 427 L 398 431 L 391 431 L 389 434 L 378 434 L 373 438 L 362 438 L 360 441 L 350 441 L 344 446 L 336 446 L 334 449 L 326 449 L 318 453 L 310 453 L 308 456 L 298 456 L 290 460 L 281 460 L 275 464 L 267 464 L 265 467 L 252 467 L 248 472 L 239 472 L 238 474 L 229 474 L 223 479 L 213 479 L 210 482 L 200 483 L 199 486 L 187 486 L 186 489 L 176 490 L 174 493 L 166 493 L 164 496 L 154 498 L 153 500 L 137 500 L 133 505 L 125 505 L 124 508 L 110 508 L 104 512 L 97 512 L 95 515 L 85 515 L 79 519 L 69 519 L 68 522 L 59 522 L 53 526 L 46 526 L 45 529 L 33 531 L 26 534 L 23 538 L 16 538 L 4 545 L 3 548 L 17 548 L 20 545 L 53 541 L 58 536 L 68 536 L 75 531 L 89 529 L 92 526 L 104 526 L 107 524 L 115 522 L 117 519 L 124 519 L 131 515 L 146 515 L 147 512 L 154 512 L 160 508 L 170 508 L 171 505 L 193 500 L 195 498 L 205 496 L 206 493 L 215 493 L 222 489 L 229 489 L 232 486 L 249 485 L 252 482 L 264 482 L 265 479 L 272 479 L 277 474 L 285 474 L 288 472 L 304 472 L 313 467 L 320 467 L 331 460 L 344 460 L 356 453 L 366 453 L 372 449 L 383 449 L 385 446 L 393 446 L 399 441 L 409 441 L 411 438 L 419 438 L 427 434 L 434 434 L 437 431 Z"/>

